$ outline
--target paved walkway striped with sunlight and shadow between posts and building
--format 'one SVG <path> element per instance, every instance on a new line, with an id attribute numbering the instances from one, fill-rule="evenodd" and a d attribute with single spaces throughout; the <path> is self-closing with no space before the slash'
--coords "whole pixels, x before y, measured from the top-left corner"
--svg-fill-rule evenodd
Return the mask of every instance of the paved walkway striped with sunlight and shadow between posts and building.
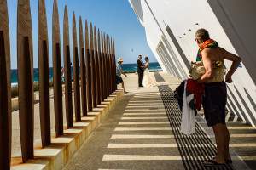
<path id="1" fill-rule="evenodd" d="M 202 167 L 203 160 L 216 154 L 212 129 L 198 115 L 195 134 L 184 136 L 179 133 L 181 113 L 172 90 L 177 88 L 181 80 L 167 73 L 155 76 L 158 81 L 169 82 L 169 86 L 137 88 L 137 76 L 129 74 L 124 78 L 125 88 L 130 93 L 113 107 L 69 161 L 66 170 L 245 170 L 256 166 L 256 129 L 240 121 L 228 122 L 233 165 L 224 168 Z"/>

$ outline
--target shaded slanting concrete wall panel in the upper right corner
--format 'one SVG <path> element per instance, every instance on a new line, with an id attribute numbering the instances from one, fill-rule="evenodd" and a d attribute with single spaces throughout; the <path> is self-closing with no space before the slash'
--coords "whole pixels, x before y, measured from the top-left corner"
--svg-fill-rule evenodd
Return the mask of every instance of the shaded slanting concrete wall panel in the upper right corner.
<path id="1" fill-rule="evenodd" d="M 256 82 L 256 1 L 254 0 L 208 0 L 225 33 L 230 38 L 253 82 Z"/>

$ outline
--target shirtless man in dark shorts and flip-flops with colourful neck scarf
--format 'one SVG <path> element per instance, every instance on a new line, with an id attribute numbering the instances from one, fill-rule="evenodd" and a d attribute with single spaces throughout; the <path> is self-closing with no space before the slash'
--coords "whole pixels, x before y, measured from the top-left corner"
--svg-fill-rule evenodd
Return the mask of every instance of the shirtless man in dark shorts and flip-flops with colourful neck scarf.
<path id="1" fill-rule="evenodd" d="M 230 133 L 225 124 L 225 105 L 227 101 L 226 83 L 231 83 L 231 76 L 238 68 L 241 58 L 235 54 L 227 52 L 224 48 L 218 47 L 218 42 L 210 39 L 208 31 L 200 29 L 195 33 L 195 41 L 199 46 L 197 61 L 202 60 L 206 73 L 197 80 L 198 83 L 205 83 L 205 106 L 204 114 L 208 127 L 212 127 L 217 144 L 217 156 L 212 160 L 205 161 L 204 166 L 224 166 L 225 163 L 231 163 L 229 143 Z M 225 82 L 208 82 L 215 77 L 213 63 L 220 61 L 224 64 L 224 59 L 232 61 L 230 70 L 226 74 Z"/>

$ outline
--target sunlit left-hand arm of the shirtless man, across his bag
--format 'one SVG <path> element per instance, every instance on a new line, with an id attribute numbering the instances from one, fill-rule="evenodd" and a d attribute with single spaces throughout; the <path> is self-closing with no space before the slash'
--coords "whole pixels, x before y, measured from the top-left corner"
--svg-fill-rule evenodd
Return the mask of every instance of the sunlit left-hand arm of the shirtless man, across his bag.
<path id="1" fill-rule="evenodd" d="M 207 82 L 208 79 L 214 77 L 213 61 L 209 52 L 210 48 L 206 48 L 202 51 L 202 60 L 206 69 L 206 73 L 197 80 L 198 83 Z"/>

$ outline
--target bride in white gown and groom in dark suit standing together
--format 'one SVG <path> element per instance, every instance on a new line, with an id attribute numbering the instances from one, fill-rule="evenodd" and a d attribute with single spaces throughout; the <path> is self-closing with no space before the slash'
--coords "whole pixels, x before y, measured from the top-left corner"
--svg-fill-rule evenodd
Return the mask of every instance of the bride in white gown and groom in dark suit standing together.
<path id="1" fill-rule="evenodd" d="M 139 87 L 155 87 L 155 86 L 161 86 L 161 85 L 168 85 L 168 82 L 156 82 L 154 77 L 151 77 L 149 74 L 149 59 L 148 57 L 145 57 L 146 64 L 143 65 L 142 61 L 143 57 L 142 55 L 138 56 L 137 59 L 137 75 L 138 75 L 138 86 Z"/>

